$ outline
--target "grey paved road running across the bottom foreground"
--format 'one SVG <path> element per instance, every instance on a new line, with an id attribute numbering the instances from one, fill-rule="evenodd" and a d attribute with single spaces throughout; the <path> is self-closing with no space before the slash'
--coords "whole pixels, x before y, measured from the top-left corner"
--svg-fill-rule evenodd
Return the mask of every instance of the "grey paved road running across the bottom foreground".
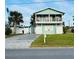
<path id="1" fill-rule="evenodd" d="M 73 48 L 6 49 L 5 59 L 74 59 Z"/>

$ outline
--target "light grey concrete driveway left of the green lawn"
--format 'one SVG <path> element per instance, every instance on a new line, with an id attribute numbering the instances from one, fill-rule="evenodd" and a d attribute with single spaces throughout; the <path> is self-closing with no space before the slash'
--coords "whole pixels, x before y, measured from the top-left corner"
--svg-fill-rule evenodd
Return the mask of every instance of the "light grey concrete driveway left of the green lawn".
<path id="1" fill-rule="evenodd" d="M 31 43 L 38 38 L 37 34 L 24 34 L 6 38 L 5 48 L 6 49 L 24 49 L 29 48 Z"/>

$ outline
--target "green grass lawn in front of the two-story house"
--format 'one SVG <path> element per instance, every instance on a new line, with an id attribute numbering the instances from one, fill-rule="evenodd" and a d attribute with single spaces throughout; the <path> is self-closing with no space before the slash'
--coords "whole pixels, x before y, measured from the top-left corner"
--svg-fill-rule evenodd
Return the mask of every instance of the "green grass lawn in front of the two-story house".
<path id="1" fill-rule="evenodd" d="M 73 47 L 74 34 L 52 34 L 47 35 L 46 44 L 43 43 L 44 36 L 41 35 L 34 42 L 31 47 Z"/>

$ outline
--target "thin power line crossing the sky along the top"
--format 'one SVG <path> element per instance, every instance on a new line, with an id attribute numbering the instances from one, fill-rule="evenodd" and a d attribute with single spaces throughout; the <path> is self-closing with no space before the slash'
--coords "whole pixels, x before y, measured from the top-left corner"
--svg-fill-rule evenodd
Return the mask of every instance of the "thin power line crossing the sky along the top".
<path id="1" fill-rule="evenodd" d="M 25 3 L 6 3 L 7 5 L 22 5 L 22 4 L 38 4 L 38 3 L 53 3 L 53 2 L 65 2 L 67 0 L 62 0 L 62 1 L 45 1 L 45 2 L 25 2 Z M 69 0 L 73 1 L 73 0 Z"/>

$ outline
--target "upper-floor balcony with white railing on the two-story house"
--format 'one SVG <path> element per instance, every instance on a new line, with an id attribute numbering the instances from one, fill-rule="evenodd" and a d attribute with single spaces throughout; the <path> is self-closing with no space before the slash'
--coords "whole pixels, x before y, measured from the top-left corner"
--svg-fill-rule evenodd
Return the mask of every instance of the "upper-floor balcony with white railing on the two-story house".
<path id="1" fill-rule="evenodd" d="M 49 24 L 49 23 L 63 23 L 62 17 L 61 16 L 43 16 L 43 17 L 36 17 L 35 18 L 35 23 L 38 24 Z"/>

